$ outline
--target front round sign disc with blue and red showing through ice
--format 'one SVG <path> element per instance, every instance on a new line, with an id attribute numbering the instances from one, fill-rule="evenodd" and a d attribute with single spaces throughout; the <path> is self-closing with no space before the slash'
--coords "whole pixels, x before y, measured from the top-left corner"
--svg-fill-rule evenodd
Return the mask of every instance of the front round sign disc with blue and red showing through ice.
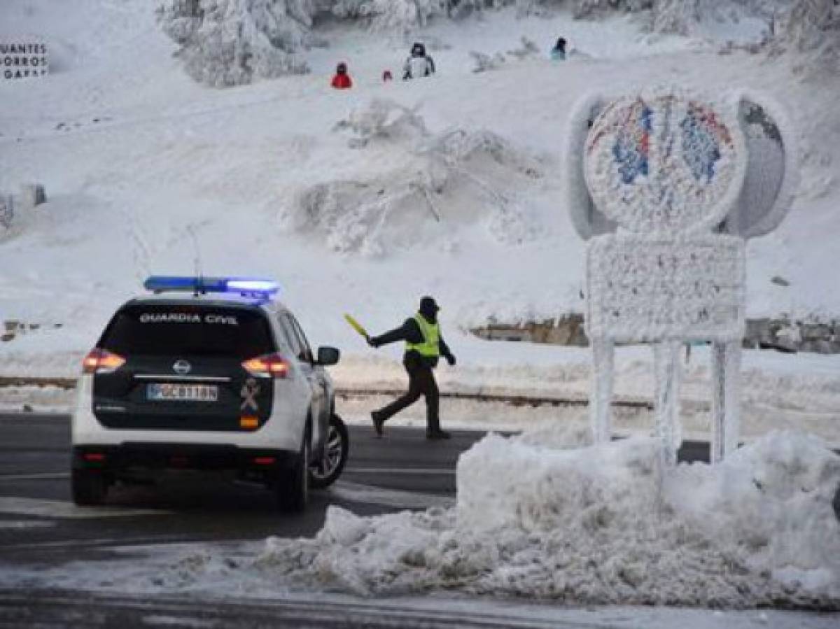
<path id="1" fill-rule="evenodd" d="M 686 233 L 726 217 L 743 181 L 736 124 L 693 97 L 622 98 L 596 118 L 585 177 L 597 207 L 635 233 Z"/>

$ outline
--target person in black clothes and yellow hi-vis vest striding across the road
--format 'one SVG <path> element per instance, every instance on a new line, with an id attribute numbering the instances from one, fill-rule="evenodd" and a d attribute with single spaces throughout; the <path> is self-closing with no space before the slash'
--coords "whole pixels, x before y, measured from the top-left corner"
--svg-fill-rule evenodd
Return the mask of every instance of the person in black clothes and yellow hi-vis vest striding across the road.
<path id="1" fill-rule="evenodd" d="M 420 396 L 426 396 L 426 438 L 448 439 L 449 432 L 440 429 L 438 383 L 433 369 L 443 356 L 449 364 L 455 364 L 455 357 L 440 334 L 438 304 L 432 297 L 420 300 L 420 310 L 414 317 L 406 319 L 401 328 L 391 330 L 378 337 L 368 337 L 371 347 L 381 347 L 395 341 L 405 341 L 406 353 L 402 364 L 408 372 L 406 395 L 370 413 L 377 436 L 382 436 L 382 424 L 389 417 L 411 406 Z"/>

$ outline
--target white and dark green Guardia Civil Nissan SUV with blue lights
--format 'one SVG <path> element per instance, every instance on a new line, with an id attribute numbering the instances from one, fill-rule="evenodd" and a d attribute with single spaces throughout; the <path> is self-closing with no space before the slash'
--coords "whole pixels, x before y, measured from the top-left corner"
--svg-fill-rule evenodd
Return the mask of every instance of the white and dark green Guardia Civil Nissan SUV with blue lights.
<path id="1" fill-rule="evenodd" d="M 339 477 L 349 451 L 325 366 L 270 280 L 153 276 L 84 359 L 73 500 L 166 469 L 232 470 L 286 511 Z"/>

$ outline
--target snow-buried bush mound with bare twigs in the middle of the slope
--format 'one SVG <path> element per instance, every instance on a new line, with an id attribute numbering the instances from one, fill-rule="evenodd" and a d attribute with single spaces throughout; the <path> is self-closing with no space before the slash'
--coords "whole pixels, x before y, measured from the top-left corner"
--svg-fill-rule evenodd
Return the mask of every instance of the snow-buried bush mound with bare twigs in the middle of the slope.
<path id="1" fill-rule="evenodd" d="M 287 231 L 365 255 L 431 242 L 451 246 L 458 228 L 476 223 L 504 244 L 537 237 L 521 193 L 542 177 L 542 164 L 506 139 L 459 128 L 429 134 L 416 111 L 386 100 L 355 110 L 336 128 L 365 160 L 394 166 L 294 191 L 281 211 Z"/>

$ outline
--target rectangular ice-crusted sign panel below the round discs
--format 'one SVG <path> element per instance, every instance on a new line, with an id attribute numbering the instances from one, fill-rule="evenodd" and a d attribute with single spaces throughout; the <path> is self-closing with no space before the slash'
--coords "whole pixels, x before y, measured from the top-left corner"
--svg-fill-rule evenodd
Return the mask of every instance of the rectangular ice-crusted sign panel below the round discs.
<path id="1" fill-rule="evenodd" d="M 743 262 L 743 240 L 731 236 L 596 238 L 587 252 L 589 332 L 619 342 L 741 338 Z"/>

